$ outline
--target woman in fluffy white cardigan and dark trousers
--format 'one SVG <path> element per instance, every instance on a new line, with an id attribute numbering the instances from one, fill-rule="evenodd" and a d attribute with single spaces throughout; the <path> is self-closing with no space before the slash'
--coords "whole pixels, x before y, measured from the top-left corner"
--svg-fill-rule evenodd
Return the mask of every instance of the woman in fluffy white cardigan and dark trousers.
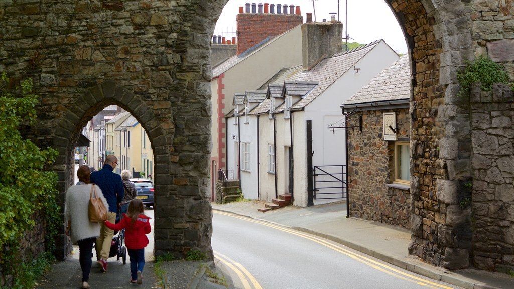
<path id="1" fill-rule="evenodd" d="M 66 235 L 71 233 L 71 243 L 79 244 L 79 261 L 82 269 L 82 287 L 89 288 L 89 273 L 91 272 L 91 251 L 96 238 L 100 236 L 100 224 L 89 222 L 88 204 L 91 187 L 94 186 L 97 197 L 101 197 L 105 208 L 109 207 L 102 190 L 95 184 L 89 183 L 91 171 L 88 166 L 80 166 L 77 176 L 80 185 L 71 186 L 66 191 L 64 215 L 68 225 Z"/>

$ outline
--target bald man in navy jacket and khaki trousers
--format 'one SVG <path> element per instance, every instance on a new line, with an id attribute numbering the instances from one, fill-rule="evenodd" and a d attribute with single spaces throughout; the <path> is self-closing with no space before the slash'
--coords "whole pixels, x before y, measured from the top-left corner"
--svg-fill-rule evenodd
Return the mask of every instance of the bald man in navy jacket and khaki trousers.
<path id="1" fill-rule="evenodd" d="M 117 165 L 118 158 L 115 155 L 107 155 L 103 168 L 91 173 L 91 182 L 97 184 L 102 189 L 103 195 L 109 204 L 107 221 L 111 223 L 116 222 L 116 213 L 124 195 L 121 176 L 113 172 Z M 107 228 L 104 223 L 101 226 L 100 237 L 97 239 L 96 244 L 97 263 L 101 272 L 107 272 L 107 259 L 111 251 L 113 235 L 114 231 Z"/>

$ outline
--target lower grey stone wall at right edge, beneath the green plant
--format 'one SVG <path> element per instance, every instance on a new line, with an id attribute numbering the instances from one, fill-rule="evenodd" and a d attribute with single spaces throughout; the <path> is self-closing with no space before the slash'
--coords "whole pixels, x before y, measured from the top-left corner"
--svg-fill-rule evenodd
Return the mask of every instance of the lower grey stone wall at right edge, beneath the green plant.
<path id="1" fill-rule="evenodd" d="M 514 93 L 475 86 L 470 101 L 473 266 L 506 272 L 514 270 Z"/>

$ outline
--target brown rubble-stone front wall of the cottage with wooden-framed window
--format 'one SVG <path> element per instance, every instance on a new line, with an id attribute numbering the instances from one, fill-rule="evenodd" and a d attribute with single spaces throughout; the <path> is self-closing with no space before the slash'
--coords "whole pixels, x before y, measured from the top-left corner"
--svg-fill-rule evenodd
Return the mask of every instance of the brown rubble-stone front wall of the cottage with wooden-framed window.
<path id="1" fill-rule="evenodd" d="M 362 116 L 362 131 L 353 129 L 348 136 L 350 215 L 410 228 L 409 190 L 388 186 L 394 180 L 394 141 L 383 139 L 384 112 L 396 112 L 398 140 L 409 140 L 408 109 L 358 114 Z"/>

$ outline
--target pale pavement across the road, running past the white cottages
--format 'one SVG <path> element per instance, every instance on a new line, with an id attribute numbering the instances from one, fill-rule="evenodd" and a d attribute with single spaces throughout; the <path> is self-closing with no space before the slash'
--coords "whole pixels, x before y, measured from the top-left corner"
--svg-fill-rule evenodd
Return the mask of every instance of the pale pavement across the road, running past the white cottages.
<path id="1" fill-rule="evenodd" d="M 280 224 L 345 245 L 410 272 L 461 286 L 466 289 L 512 289 L 514 278 L 482 270 L 447 270 L 431 266 L 408 254 L 411 234 L 396 227 L 346 218 L 346 202 L 306 208 L 287 206 L 265 213 L 262 202 L 211 203 L 214 210 L 231 212 L 253 219 Z"/>

